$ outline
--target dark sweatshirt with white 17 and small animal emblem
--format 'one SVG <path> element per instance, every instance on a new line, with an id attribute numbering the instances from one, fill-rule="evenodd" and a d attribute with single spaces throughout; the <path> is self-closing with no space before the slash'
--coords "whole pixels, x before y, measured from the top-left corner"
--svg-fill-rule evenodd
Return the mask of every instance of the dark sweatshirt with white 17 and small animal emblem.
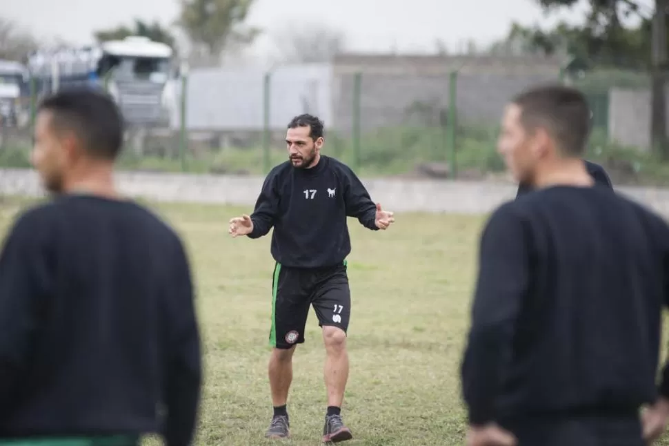
<path id="1" fill-rule="evenodd" d="M 347 216 L 377 229 L 376 204 L 348 166 L 324 155 L 308 169 L 294 168 L 287 161 L 267 175 L 248 236 L 262 237 L 274 226 L 271 251 L 279 264 L 334 266 L 351 251 Z"/>

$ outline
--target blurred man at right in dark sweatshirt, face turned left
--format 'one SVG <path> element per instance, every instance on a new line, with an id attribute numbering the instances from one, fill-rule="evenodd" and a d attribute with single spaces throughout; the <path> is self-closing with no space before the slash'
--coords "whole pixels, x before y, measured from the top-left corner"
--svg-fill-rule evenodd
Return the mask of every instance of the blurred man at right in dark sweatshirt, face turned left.
<path id="1" fill-rule="evenodd" d="M 471 446 L 641 446 L 666 425 L 669 369 L 659 387 L 655 376 L 669 228 L 592 180 L 589 116 L 564 86 L 506 108 L 499 151 L 537 191 L 500 206 L 481 236 L 461 368 Z"/>

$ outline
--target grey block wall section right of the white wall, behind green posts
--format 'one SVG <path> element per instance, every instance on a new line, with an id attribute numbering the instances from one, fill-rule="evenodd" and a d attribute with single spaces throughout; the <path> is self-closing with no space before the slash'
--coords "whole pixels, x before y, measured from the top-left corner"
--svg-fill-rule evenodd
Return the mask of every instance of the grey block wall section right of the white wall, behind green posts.
<path id="1" fill-rule="evenodd" d="M 339 55 L 333 61 L 332 105 L 337 130 L 350 132 L 355 74 L 361 73 L 361 128 L 426 125 L 449 106 L 450 72 L 457 70 L 459 122 L 497 124 L 521 90 L 557 81 L 559 61 L 535 57 Z M 422 109 L 417 116 L 412 113 Z M 432 110 L 426 117 L 425 110 Z M 428 113 L 430 115 L 430 113 Z M 418 121 L 417 121 L 418 120 Z M 435 125 L 435 122 L 430 124 Z"/>

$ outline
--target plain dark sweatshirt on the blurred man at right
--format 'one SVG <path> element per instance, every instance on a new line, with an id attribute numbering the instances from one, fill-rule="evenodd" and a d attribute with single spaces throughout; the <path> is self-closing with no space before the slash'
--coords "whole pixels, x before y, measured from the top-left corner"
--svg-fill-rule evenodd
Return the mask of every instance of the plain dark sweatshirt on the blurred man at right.
<path id="1" fill-rule="evenodd" d="M 470 423 L 635 416 L 658 394 L 668 285 L 668 226 L 608 188 L 554 186 L 503 204 L 481 237 L 461 368 Z"/>

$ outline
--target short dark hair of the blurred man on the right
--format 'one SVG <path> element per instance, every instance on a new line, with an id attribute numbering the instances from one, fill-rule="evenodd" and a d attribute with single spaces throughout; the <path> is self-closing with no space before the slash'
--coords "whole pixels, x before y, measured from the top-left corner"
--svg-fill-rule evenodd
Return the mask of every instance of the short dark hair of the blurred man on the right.
<path id="1" fill-rule="evenodd" d="M 563 155 L 581 157 L 590 135 L 590 106 L 576 88 L 548 85 L 530 88 L 513 101 L 521 109 L 521 124 L 528 131 L 545 128 Z"/>

